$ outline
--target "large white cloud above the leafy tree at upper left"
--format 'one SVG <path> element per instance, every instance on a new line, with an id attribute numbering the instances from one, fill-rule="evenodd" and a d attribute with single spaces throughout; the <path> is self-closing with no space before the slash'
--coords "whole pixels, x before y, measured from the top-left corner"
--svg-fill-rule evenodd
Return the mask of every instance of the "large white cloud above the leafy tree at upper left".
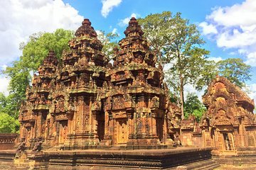
<path id="1" fill-rule="evenodd" d="M 76 30 L 82 19 L 75 8 L 61 0 L 0 1 L 1 65 L 18 60 L 21 56 L 19 43 L 27 42 L 29 35 L 40 31 L 53 32 L 57 28 Z M 0 79 L 0 91 L 6 91 L 9 81 L 3 77 Z"/>

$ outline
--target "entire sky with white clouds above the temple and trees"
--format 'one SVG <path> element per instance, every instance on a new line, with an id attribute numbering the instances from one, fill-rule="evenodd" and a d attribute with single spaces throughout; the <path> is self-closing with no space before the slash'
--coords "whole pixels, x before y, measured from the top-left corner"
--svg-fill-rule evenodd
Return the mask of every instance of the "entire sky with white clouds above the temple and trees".
<path id="1" fill-rule="evenodd" d="M 131 16 L 181 12 L 195 23 L 206 40 L 212 60 L 240 57 L 252 66 L 248 81 L 256 99 L 256 1 L 255 0 L 3 0 L 0 1 L 0 69 L 18 60 L 20 42 L 39 31 L 76 30 L 89 18 L 95 30 L 123 32 Z M 121 39 L 120 38 L 120 39 Z M 0 91 L 7 94 L 9 78 L 0 74 Z M 187 88 L 188 91 L 193 89 Z"/>

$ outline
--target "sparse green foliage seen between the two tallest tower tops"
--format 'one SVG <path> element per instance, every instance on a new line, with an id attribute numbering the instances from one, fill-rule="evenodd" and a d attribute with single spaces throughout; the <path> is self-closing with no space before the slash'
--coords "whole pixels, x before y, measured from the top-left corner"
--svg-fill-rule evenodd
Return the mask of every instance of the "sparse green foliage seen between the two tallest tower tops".
<path id="1" fill-rule="evenodd" d="M 114 48 L 119 47 L 116 40 L 118 37 L 119 35 L 117 33 L 105 33 L 104 30 L 100 30 L 100 33 L 97 33 L 97 38 L 103 45 L 102 52 L 108 60 L 113 59 Z"/>

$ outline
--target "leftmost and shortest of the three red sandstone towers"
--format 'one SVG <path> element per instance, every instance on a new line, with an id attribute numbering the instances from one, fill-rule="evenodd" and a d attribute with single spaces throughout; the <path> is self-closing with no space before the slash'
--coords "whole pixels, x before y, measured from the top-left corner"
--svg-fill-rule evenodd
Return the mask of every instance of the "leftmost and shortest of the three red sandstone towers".
<path id="1" fill-rule="evenodd" d="M 49 127 L 50 93 L 53 91 L 51 82 L 55 79 L 58 60 L 53 51 L 50 51 L 38 75 L 34 74 L 32 88 L 26 89 L 26 102 L 21 104 L 18 120 L 21 123 L 21 141 L 32 147 L 38 140 L 47 140 Z M 52 120 L 53 121 L 53 120 Z"/>

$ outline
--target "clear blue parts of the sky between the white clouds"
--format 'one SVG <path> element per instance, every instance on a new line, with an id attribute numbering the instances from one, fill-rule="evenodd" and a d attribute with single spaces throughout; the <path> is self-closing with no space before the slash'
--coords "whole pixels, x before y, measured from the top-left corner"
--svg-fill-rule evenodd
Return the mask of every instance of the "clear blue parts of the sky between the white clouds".
<path id="1" fill-rule="evenodd" d="M 82 1 L 82 0 L 65 0 L 65 3 L 70 4 L 78 10 L 78 13 L 85 18 L 89 18 L 95 30 L 105 30 L 107 32 L 117 28 L 117 32 L 123 36 L 123 31 L 126 26 L 119 26 L 122 19 L 127 18 L 135 13 L 137 18 L 145 17 L 150 13 L 161 13 L 163 11 L 171 11 L 172 13 L 181 12 L 183 18 L 188 18 L 191 23 L 199 24 L 205 21 L 214 8 L 220 6 L 233 6 L 241 4 L 242 0 L 225 0 L 225 1 L 207 1 L 207 0 L 123 0 L 118 6 L 112 8 L 107 17 L 102 16 L 102 1 Z M 216 47 L 214 40 L 206 40 L 205 47 L 210 50 L 210 56 L 214 57 L 234 57 L 228 55 L 232 50 L 223 50 Z M 256 81 L 255 81 L 256 82 Z"/>

